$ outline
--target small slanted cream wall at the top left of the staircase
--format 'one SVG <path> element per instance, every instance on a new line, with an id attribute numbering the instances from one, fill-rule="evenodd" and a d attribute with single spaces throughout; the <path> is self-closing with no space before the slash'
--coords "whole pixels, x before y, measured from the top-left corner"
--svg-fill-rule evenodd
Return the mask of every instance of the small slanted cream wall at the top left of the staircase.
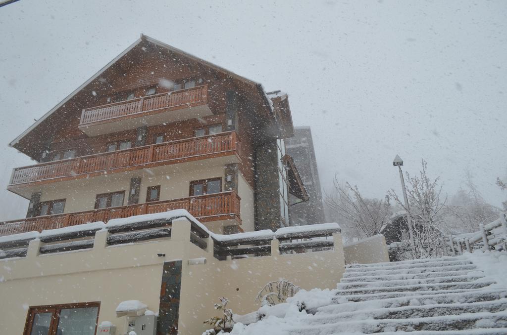
<path id="1" fill-rule="evenodd" d="M 382 234 L 343 247 L 345 264 L 370 264 L 389 262 L 387 244 Z"/>

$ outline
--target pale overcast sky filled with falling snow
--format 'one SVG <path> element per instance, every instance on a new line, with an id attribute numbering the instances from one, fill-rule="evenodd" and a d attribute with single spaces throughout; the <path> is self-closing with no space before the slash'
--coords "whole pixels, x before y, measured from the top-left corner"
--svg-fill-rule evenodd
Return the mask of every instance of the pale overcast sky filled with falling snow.
<path id="1" fill-rule="evenodd" d="M 35 1 L 0 8 L 0 220 L 30 160 L 8 143 L 142 32 L 289 94 L 312 128 L 324 187 L 335 173 L 371 197 L 392 166 L 428 161 L 452 195 L 468 167 L 484 197 L 507 175 L 505 1 Z"/>

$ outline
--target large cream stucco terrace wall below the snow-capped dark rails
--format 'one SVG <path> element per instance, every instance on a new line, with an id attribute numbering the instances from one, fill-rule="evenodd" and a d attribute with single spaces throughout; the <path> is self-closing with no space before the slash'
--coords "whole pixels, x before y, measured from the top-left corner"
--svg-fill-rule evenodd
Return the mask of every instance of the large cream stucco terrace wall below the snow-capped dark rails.
<path id="1" fill-rule="evenodd" d="M 100 302 L 99 323 L 112 321 L 118 334 L 125 331 L 125 318 L 115 309 L 125 300 L 140 300 L 159 308 L 164 258 L 182 260 L 179 333 L 200 334 L 202 321 L 214 314 L 218 297 L 230 300 L 235 313 L 256 310 L 257 292 L 269 281 L 285 278 L 303 288 L 335 288 L 344 272 L 341 235 L 334 234 L 335 249 L 316 253 L 279 255 L 272 241 L 272 255 L 218 261 L 212 240 L 206 250 L 190 240 L 190 223 L 178 219 L 170 239 L 105 246 L 107 231 L 95 235 L 94 248 L 55 255 L 38 255 L 41 242 L 30 242 L 25 258 L 0 261 L 0 329 L 19 334 L 29 306 L 74 302 Z M 205 264 L 189 265 L 189 259 L 205 258 Z M 9 303 L 5 303 L 9 302 Z"/>

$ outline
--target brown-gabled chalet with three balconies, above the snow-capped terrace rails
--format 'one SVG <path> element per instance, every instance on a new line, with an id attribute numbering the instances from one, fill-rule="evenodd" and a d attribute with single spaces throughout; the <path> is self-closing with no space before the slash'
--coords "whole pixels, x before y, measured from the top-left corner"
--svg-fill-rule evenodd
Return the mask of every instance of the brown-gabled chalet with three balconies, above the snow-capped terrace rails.
<path id="1" fill-rule="evenodd" d="M 286 94 L 141 35 L 10 146 L 37 164 L 8 190 L 30 200 L 0 235 L 188 210 L 217 233 L 289 224 L 306 200 L 285 152 Z"/>

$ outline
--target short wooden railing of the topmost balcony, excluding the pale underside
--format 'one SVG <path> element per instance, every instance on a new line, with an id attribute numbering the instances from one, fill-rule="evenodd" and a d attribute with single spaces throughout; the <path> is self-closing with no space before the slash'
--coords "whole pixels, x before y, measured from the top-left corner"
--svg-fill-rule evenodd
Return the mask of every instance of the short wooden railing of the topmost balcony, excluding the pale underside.
<path id="1" fill-rule="evenodd" d="M 206 104 L 208 101 L 208 86 L 198 86 L 185 90 L 161 93 L 147 97 L 140 97 L 112 104 L 85 108 L 81 113 L 79 125 L 124 117 L 136 113 L 144 113 L 178 106 L 193 106 Z"/>

